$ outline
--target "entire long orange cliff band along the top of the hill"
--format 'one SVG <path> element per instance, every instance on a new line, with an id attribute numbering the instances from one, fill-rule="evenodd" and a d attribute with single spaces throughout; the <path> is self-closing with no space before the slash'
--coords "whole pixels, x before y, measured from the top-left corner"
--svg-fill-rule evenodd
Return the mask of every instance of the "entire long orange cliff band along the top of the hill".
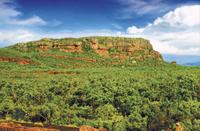
<path id="1" fill-rule="evenodd" d="M 118 59 L 134 59 L 144 61 L 153 59 L 163 61 L 159 52 L 153 50 L 148 40 L 142 38 L 123 37 L 84 37 L 66 39 L 41 39 L 35 42 L 18 44 L 17 48 L 37 51 L 57 49 L 61 52 L 84 53 L 92 51 L 102 57 Z"/>

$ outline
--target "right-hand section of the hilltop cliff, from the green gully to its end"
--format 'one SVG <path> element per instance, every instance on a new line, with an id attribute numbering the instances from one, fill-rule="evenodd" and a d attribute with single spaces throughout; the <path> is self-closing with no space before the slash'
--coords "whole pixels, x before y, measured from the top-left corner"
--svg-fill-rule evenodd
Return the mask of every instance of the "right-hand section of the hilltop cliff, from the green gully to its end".
<path id="1" fill-rule="evenodd" d="M 100 40 L 102 41 L 102 40 Z M 98 38 L 88 39 L 91 43 L 91 48 L 104 57 L 127 59 L 133 57 L 135 60 L 143 61 L 147 58 L 162 61 L 162 56 L 159 52 L 154 51 L 148 40 L 138 40 L 131 38 L 116 38 L 114 41 L 104 38 L 103 43 L 99 42 Z"/>

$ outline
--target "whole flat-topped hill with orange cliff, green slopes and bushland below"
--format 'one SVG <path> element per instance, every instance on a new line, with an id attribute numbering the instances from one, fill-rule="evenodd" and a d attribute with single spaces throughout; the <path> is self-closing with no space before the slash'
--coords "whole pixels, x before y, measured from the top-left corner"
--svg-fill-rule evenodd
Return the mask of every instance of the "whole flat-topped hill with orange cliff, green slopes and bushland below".
<path id="1" fill-rule="evenodd" d="M 200 67 L 163 61 L 148 40 L 42 39 L 0 49 L 0 119 L 159 131 L 200 129 Z"/>

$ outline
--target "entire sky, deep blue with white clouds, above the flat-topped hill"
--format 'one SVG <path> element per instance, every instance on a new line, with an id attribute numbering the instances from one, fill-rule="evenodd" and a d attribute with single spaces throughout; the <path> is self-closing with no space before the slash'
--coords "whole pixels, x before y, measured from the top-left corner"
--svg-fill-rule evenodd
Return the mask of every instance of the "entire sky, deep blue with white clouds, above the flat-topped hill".
<path id="1" fill-rule="evenodd" d="M 200 61 L 200 1 L 0 0 L 0 47 L 82 36 L 143 37 L 167 61 Z"/>

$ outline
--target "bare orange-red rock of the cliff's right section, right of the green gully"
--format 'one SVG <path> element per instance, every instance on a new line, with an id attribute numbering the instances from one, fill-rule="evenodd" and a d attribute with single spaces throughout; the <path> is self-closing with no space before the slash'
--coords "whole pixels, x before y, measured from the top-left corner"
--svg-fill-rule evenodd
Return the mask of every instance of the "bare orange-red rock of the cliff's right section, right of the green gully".
<path id="1" fill-rule="evenodd" d="M 156 60 L 162 61 L 162 56 L 159 52 L 153 50 L 153 47 L 150 43 L 124 43 L 123 40 L 119 40 L 118 43 L 106 41 L 108 43 L 105 42 L 106 44 L 104 44 L 105 47 L 103 48 L 102 44 L 98 42 L 98 39 L 91 39 L 89 42 L 91 43 L 91 48 L 94 50 L 94 52 L 103 57 L 127 59 L 133 56 L 135 60 L 138 61 L 144 61 L 145 58 L 154 58 Z M 109 49 L 117 50 L 118 53 L 109 53 Z M 143 54 L 136 55 L 135 53 L 137 52 L 143 52 Z"/>

